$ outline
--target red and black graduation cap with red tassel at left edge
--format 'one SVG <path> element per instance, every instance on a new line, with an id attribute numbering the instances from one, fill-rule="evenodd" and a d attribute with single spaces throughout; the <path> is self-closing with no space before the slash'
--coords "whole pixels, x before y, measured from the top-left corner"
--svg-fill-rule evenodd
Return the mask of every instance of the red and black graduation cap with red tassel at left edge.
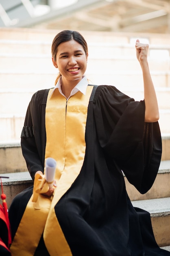
<path id="1" fill-rule="evenodd" d="M 4 252 L 3 255 L 6 252 L 9 252 L 7 255 L 11 255 L 9 251 L 9 247 L 11 245 L 11 228 L 10 228 L 10 223 L 9 223 L 9 218 L 8 218 L 8 207 L 7 207 L 7 202 L 6 202 L 6 195 L 4 194 L 3 186 L 2 186 L 2 178 L 9 178 L 9 177 L 2 177 L 0 176 L 0 183 L 1 183 L 1 189 L 2 189 L 2 194 L 1 194 L 1 199 L 2 199 L 2 204 L 0 204 L 0 255 L 1 251 Z"/>

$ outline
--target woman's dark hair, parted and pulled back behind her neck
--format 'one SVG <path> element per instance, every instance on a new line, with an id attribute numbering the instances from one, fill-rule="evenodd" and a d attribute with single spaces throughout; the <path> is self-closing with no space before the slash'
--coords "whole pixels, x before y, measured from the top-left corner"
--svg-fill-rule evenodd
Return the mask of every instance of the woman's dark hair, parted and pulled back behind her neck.
<path id="1" fill-rule="evenodd" d="M 84 51 L 85 54 L 87 56 L 88 53 L 88 47 L 87 47 L 87 43 L 85 41 L 85 38 L 78 32 L 78 31 L 72 31 L 72 30 L 63 30 L 61 32 L 59 32 L 53 39 L 52 41 L 52 46 L 51 46 L 51 53 L 52 53 L 52 57 L 54 58 L 54 61 L 56 61 L 56 54 L 57 54 L 57 48 L 58 46 L 63 43 L 63 42 L 67 42 L 70 40 L 75 40 L 77 43 L 79 43 Z M 57 83 L 57 81 L 59 80 L 61 74 L 59 73 L 59 75 L 57 76 L 57 79 L 55 81 L 55 85 Z"/>

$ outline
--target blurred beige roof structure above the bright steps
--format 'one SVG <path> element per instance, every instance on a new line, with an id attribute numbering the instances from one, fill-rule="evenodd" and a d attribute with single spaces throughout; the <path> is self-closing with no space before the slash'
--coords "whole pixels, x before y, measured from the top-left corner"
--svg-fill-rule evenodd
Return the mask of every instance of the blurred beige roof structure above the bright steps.
<path id="1" fill-rule="evenodd" d="M 169 0 L 0 0 L 0 27 L 170 32 Z"/>

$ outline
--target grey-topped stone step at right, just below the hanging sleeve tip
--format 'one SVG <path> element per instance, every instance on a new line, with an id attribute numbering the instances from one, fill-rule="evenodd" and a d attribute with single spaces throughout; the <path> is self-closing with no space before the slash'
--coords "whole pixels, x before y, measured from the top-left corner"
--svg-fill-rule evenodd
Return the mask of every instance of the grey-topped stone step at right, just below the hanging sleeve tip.
<path id="1" fill-rule="evenodd" d="M 159 246 L 170 245 L 170 197 L 132 202 L 150 213 L 153 232 Z"/>

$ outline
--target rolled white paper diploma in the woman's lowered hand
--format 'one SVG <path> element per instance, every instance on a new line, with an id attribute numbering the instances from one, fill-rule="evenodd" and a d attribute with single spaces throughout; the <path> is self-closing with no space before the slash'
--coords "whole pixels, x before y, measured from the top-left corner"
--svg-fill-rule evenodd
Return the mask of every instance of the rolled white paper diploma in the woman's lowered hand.
<path id="1" fill-rule="evenodd" d="M 46 171 L 45 171 L 45 179 L 48 183 L 49 188 L 52 188 L 55 176 L 57 162 L 54 158 L 48 157 L 46 159 Z"/>

